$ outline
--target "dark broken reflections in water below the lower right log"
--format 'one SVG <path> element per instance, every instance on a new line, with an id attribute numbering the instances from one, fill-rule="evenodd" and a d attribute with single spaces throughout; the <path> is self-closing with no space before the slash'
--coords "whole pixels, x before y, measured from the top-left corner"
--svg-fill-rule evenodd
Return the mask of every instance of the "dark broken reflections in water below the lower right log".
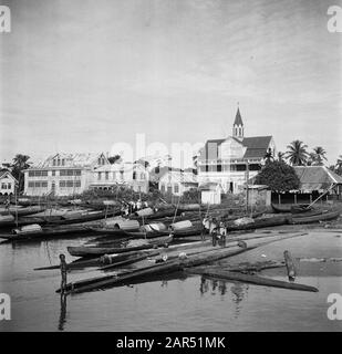
<path id="1" fill-rule="evenodd" d="M 208 279 L 206 277 L 200 277 L 199 292 L 201 295 L 209 292 L 215 295 L 219 293 L 220 295 L 226 295 L 228 290 L 228 283 L 226 280 Z M 241 310 L 242 300 L 247 296 L 249 285 L 246 283 L 232 283 L 230 287 L 231 301 L 235 304 L 235 317 L 238 317 Z"/>

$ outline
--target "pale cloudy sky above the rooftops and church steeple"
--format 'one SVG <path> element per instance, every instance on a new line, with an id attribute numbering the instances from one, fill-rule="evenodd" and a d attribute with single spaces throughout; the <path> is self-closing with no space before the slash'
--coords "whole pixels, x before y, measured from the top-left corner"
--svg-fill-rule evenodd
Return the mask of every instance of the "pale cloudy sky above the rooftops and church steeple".
<path id="1" fill-rule="evenodd" d="M 0 162 L 272 135 L 342 155 L 341 0 L 6 1 Z"/>

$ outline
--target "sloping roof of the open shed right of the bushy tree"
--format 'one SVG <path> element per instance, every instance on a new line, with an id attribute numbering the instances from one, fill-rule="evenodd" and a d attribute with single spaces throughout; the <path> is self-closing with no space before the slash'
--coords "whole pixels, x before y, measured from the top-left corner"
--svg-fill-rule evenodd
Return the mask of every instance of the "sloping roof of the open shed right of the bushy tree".
<path id="1" fill-rule="evenodd" d="M 328 189 L 333 184 L 342 185 L 342 177 L 325 166 L 294 166 L 301 190 Z"/>

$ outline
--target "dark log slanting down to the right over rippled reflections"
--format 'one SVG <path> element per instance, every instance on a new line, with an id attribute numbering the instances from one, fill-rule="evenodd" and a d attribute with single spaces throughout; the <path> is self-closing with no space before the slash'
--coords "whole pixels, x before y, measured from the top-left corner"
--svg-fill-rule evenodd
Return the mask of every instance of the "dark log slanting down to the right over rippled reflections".
<path id="1" fill-rule="evenodd" d="M 259 275 L 249 275 L 249 274 L 240 274 L 230 271 L 224 270 L 210 270 L 206 268 L 193 268 L 187 270 L 191 274 L 200 274 L 208 278 L 216 278 L 220 280 L 234 280 L 240 281 L 245 283 L 251 283 L 256 285 L 265 285 L 265 287 L 273 287 L 273 288 L 282 288 L 282 289 L 290 289 L 290 290 L 300 290 L 300 291 L 311 291 L 318 292 L 319 290 L 314 287 L 305 285 L 305 284 L 297 284 L 297 283 L 289 283 L 281 280 L 274 280 L 270 278 L 263 278 Z"/>

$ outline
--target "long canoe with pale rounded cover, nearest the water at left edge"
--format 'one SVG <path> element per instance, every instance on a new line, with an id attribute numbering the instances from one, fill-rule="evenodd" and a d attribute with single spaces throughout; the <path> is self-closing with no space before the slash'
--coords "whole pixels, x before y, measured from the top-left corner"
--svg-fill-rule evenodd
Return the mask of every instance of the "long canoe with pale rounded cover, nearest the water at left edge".
<path id="1" fill-rule="evenodd" d="M 29 225 L 23 226 L 18 229 L 13 229 L 12 233 L 0 233 L 0 238 L 9 241 L 20 241 L 20 240 L 37 240 L 44 238 L 55 238 L 60 236 L 71 236 L 71 235 L 86 235 L 91 230 L 83 225 L 75 226 L 61 226 L 61 227 L 41 227 L 40 225 Z"/>

